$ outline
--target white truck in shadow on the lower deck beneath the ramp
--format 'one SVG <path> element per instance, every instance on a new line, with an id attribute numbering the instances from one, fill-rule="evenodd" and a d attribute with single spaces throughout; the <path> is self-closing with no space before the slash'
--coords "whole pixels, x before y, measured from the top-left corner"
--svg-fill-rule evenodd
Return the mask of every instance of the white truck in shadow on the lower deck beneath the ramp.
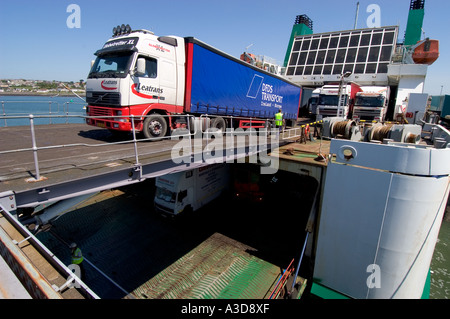
<path id="1" fill-rule="evenodd" d="M 164 216 L 196 211 L 229 185 L 226 164 L 213 164 L 156 178 L 155 210 Z"/>

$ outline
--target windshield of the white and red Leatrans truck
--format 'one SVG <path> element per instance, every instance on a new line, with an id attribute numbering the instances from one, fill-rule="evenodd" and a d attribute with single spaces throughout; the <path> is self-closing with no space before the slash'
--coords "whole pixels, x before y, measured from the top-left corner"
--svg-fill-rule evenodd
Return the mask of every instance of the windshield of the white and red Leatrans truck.
<path id="1" fill-rule="evenodd" d="M 133 52 L 116 52 L 98 56 L 88 78 L 124 78 L 128 74 Z"/>

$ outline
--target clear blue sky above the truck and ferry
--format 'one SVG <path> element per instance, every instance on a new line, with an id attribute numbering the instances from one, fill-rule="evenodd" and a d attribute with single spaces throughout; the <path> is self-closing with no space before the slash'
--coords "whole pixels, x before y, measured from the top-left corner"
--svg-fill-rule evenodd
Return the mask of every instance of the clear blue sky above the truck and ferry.
<path id="1" fill-rule="evenodd" d="M 0 0 L 0 78 L 86 79 L 93 53 L 118 24 L 156 35 L 194 36 L 235 57 L 250 52 L 282 63 L 295 17 L 308 15 L 314 33 L 352 29 L 357 0 Z M 410 0 L 360 0 L 358 28 L 367 27 L 370 4 L 381 8 L 381 26 L 399 25 L 402 40 Z M 81 9 L 81 27 L 68 28 L 70 4 Z M 425 36 L 440 41 L 425 91 L 450 94 L 450 1 L 426 0 Z"/>

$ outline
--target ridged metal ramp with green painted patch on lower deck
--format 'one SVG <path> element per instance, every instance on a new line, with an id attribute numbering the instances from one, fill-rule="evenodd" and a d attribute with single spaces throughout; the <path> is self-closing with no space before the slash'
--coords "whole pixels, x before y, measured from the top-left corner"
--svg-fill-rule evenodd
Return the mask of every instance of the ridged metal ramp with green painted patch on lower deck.
<path id="1" fill-rule="evenodd" d="M 133 294 L 150 299 L 262 299 L 280 269 L 249 250 L 215 233 Z"/>

